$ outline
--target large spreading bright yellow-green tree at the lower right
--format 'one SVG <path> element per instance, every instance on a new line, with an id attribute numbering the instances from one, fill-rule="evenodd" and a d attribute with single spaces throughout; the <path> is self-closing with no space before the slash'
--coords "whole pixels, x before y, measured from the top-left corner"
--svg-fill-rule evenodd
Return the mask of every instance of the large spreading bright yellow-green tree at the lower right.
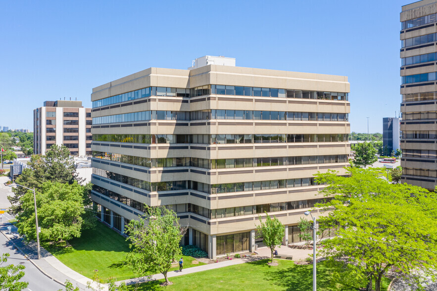
<path id="1" fill-rule="evenodd" d="M 407 184 L 390 184 L 384 169 L 348 168 L 350 177 L 329 171 L 317 174 L 328 183 L 321 193 L 334 198 L 317 205 L 334 209 L 319 223 L 339 224 L 337 235 L 324 242 L 321 255 L 345 264 L 337 278 L 381 290 L 389 269 L 409 276 L 420 269 L 435 277 L 437 268 L 437 195 Z M 426 226 L 426 227 L 424 227 Z"/>

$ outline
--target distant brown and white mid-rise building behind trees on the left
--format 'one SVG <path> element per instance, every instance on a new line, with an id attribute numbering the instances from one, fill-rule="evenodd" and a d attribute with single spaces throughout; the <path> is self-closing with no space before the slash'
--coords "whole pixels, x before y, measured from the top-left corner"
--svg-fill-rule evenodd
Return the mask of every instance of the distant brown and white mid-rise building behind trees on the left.
<path id="1" fill-rule="evenodd" d="M 82 101 L 45 101 L 33 110 L 34 153 L 45 154 L 51 145 L 65 145 L 71 155 L 91 155 L 91 108 Z"/>

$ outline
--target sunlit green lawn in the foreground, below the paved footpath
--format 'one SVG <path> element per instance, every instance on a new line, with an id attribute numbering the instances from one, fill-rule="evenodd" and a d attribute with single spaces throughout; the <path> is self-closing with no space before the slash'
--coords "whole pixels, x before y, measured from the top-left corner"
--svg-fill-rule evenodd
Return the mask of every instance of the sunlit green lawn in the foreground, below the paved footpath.
<path id="1" fill-rule="evenodd" d="M 160 287 L 161 281 L 152 281 L 140 285 L 138 291 L 148 290 L 312 290 L 312 265 L 295 265 L 289 260 L 278 260 L 279 265 L 270 267 L 267 260 L 234 265 L 209 271 L 169 278 L 173 285 Z M 357 291 L 331 280 L 332 269 L 319 263 L 317 265 L 318 291 Z M 389 280 L 384 281 L 383 290 L 387 290 Z M 135 290 L 135 286 L 129 286 Z"/>

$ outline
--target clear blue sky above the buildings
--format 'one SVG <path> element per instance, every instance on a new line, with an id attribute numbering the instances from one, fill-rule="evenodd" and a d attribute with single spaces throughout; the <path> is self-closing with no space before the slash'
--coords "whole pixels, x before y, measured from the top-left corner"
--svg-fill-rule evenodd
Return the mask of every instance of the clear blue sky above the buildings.
<path id="1" fill-rule="evenodd" d="M 1 1 L 0 125 L 149 67 L 203 55 L 237 66 L 348 76 L 351 131 L 399 111 L 399 13 L 406 0 Z"/>

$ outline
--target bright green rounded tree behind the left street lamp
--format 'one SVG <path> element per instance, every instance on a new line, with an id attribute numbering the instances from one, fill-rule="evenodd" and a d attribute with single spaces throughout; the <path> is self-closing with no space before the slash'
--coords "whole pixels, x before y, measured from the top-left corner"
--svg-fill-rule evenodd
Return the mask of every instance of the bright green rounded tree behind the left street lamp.
<path id="1" fill-rule="evenodd" d="M 69 185 L 45 182 L 36 192 L 38 224 L 42 241 L 68 241 L 78 238 L 86 224 L 84 221 L 84 196 L 86 187 L 77 182 Z M 33 192 L 28 190 L 20 198 L 22 212 L 18 214 L 17 227 L 27 240 L 36 239 Z M 90 222 L 88 222 L 90 224 Z"/>

